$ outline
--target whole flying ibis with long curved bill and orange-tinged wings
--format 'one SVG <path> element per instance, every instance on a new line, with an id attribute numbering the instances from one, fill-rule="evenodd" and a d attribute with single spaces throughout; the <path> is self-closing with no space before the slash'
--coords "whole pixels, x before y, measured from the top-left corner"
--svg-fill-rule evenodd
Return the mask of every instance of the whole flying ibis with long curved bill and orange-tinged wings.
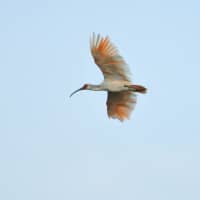
<path id="1" fill-rule="evenodd" d="M 72 92 L 70 97 L 82 90 L 107 91 L 108 117 L 120 121 L 130 119 L 136 104 L 136 93 L 144 94 L 147 89 L 132 83 L 129 66 L 109 36 L 102 37 L 93 33 L 90 37 L 90 50 L 94 62 L 103 73 L 104 80 L 99 85 L 84 84 Z"/>

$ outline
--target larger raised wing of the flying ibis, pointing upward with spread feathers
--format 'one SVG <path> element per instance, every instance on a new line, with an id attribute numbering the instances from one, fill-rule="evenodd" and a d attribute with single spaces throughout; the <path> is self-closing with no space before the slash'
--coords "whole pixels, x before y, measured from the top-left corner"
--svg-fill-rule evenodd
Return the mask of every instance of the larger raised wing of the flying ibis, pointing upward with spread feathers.
<path id="1" fill-rule="evenodd" d="M 130 82 L 128 65 L 119 55 L 117 48 L 110 42 L 109 37 L 96 36 L 94 33 L 90 40 L 91 53 L 95 63 L 99 66 L 104 79 L 124 80 Z"/>

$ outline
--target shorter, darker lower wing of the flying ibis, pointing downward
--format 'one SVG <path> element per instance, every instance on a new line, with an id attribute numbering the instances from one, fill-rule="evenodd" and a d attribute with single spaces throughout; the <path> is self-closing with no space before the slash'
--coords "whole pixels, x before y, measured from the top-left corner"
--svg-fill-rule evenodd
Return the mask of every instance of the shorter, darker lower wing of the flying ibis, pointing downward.
<path id="1" fill-rule="evenodd" d="M 136 95 L 131 91 L 108 92 L 106 104 L 108 116 L 123 121 L 129 119 L 136 104 Z"/>

